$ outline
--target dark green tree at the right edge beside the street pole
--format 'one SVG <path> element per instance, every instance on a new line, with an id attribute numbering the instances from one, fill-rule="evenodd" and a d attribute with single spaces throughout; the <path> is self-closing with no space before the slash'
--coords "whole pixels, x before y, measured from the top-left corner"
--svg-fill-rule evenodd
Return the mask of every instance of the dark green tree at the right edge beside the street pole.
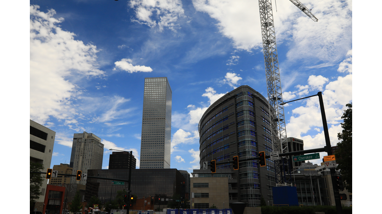
<path id="1" fill-rule="evenodd" d="M 338 150 L 336 150 L 336 161 L 338 163 L 337 169 L 341 170 L 342 180 L 344 181 L 344 187 L 352 192 L 352 103 L 346 104 L 348 109 L 344 110 L 341 123 L 343 128 L 341 133 L 338 133 L 337 144 Z"/>

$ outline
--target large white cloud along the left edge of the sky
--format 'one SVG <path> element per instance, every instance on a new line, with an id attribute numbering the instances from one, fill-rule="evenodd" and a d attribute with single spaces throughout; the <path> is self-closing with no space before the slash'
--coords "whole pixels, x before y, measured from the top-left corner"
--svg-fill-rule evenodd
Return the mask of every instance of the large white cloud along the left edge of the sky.
<path id="1" fill-rule="evenodd" d="M 73 119 L 78 113 L 72 100 L 81 94 L 70 79 L 103 76 L 98 69 L 98 50 L 75 40 L 72 32 L 59 27 L 63 18 L 56 11 L 39 11 L 30 5 L 30 119 L 44 124 L 50 116 Z"/>

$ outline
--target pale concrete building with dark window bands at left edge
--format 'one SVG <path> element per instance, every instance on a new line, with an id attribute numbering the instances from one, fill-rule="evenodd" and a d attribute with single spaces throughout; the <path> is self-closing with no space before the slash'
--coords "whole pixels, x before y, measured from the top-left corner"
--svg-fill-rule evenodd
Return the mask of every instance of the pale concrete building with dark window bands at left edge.
<path id="1" fill-rule="evenodd" d="M 50 168 L 56 132 L 32 120 L 29 120 L 29 128 L 29 161 L 43 164 L 44 169 L 42 171 L 46 172 Z M 45 179 L 45 174 L 41 176 Z M 41 186 L 42 195 L 34 206 L 35 211 L 43 211 L 46 187 L 47 182 L 43 182 Z"/>

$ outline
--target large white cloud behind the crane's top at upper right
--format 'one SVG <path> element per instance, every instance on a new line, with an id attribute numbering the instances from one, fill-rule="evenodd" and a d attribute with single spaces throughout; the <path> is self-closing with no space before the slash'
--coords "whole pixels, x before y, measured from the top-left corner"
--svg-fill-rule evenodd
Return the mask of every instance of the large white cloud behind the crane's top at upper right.
<path id="1" fill-rule="evenodd" d="M 253 0 L 192 0 L 196 11 L 217 21 L 219 32 L 233 41 L 236 49 L 262 48 L 259 4 Z M 303 2 L 319 19 L 314 22 L 290 1 L 278 1 L 274 13 L 277 42 L 288 42 L 288 59 L 336 62 L 351 48 L 351 1 L 306 0 Z M 275 11 L 275 6 L 273 8 Z M 317 41 L 320 41 L 317 43 Z"/>

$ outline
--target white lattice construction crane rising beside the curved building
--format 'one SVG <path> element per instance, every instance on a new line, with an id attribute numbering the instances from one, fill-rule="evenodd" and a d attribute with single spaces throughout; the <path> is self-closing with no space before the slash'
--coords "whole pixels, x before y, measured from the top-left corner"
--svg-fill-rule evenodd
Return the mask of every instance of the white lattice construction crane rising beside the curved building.
<path id="1" fill-rule="evenodd" d="M 313 21 L 318 21 L 310 10 L 300 1 L 290 1 Z M 277 54 L 276 34 L 271 0 L 259 0 L 259 9 L 264 48 L 265 73 L 267 77 L 268 102 L 271 116 L 273 151 L 287 153 L 288 146 L 286 142 L 284 107 L 280 105 L 283 102 L 283 94 L 281 90 L 279 57 Z M 275 161 L 277 185 L 286 185 L 289 183 L 290 167 L 286 167 L 288 164 L 288 158 L 282 158 L 282 160 Z"/>

